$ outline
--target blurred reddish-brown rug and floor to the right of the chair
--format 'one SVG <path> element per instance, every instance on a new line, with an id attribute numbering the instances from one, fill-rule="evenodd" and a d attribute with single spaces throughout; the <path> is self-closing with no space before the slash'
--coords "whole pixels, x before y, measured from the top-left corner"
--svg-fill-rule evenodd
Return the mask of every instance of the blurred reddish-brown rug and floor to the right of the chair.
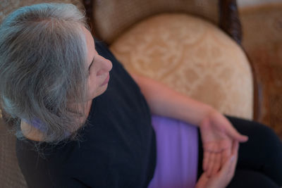
<path id="1" fill-rule="evenodd" d="M 259 122 L 282 139 L 282 0 L 238 0 L 243 47 L 261 86 Z"/>

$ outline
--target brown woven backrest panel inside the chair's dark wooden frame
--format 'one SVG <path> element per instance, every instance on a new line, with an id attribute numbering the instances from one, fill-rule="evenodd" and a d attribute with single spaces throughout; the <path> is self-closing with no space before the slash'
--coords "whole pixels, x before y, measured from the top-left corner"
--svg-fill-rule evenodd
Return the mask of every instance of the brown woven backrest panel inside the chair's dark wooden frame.
<path id="1" fill-rule="evenodd" d="M 183 12 L 218 23 L 218 0 L 95 0 L 94 31 L 111 44 L 134 23 L 158 13 Z"/>

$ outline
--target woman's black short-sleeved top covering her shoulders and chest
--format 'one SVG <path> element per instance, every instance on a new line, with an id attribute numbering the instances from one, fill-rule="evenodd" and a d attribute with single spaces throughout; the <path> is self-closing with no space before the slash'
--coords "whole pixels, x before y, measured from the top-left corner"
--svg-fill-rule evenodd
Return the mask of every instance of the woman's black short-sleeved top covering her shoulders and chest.
<path id="1" fill-rule="evenodd" d="M 80 141 L 39 145 L 17 141 L 20 169 L 29 187 L 147 187 L 156 165 L 151 114 L 134 80 L 111 52 L 95 42 L 113 63 L 108 89 L 92 101 Z"/>

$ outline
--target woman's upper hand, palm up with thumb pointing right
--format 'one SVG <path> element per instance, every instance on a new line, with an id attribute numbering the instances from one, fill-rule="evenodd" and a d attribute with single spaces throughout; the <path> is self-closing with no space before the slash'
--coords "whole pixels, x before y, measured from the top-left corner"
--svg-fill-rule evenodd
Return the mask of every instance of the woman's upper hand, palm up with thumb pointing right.
<path id="1" fill-rule="evenodd" d="M 200 132 L 204 150 L 203 170 L 207 177 L 215 175 L 230 158 L 233 143 L 247 142 L 248 139 L 214 109 L 202 120 Z"/>

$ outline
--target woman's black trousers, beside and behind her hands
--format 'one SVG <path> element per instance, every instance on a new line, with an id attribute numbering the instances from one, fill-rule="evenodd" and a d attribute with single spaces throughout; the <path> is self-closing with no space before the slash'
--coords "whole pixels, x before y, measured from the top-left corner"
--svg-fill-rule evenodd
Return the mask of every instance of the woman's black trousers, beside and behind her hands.
<path id="1" fill-rule="evenodd" d="M 254 121 L 226 115 L 233 126 L 249 140 L 239 146 L 235 175 L 228 184 L 231 187 L 281 187 L 282 142 L 274 130 Z M 202 175 L 203 149 L 199 134 L 199 162 L 197 179 Z"/>

